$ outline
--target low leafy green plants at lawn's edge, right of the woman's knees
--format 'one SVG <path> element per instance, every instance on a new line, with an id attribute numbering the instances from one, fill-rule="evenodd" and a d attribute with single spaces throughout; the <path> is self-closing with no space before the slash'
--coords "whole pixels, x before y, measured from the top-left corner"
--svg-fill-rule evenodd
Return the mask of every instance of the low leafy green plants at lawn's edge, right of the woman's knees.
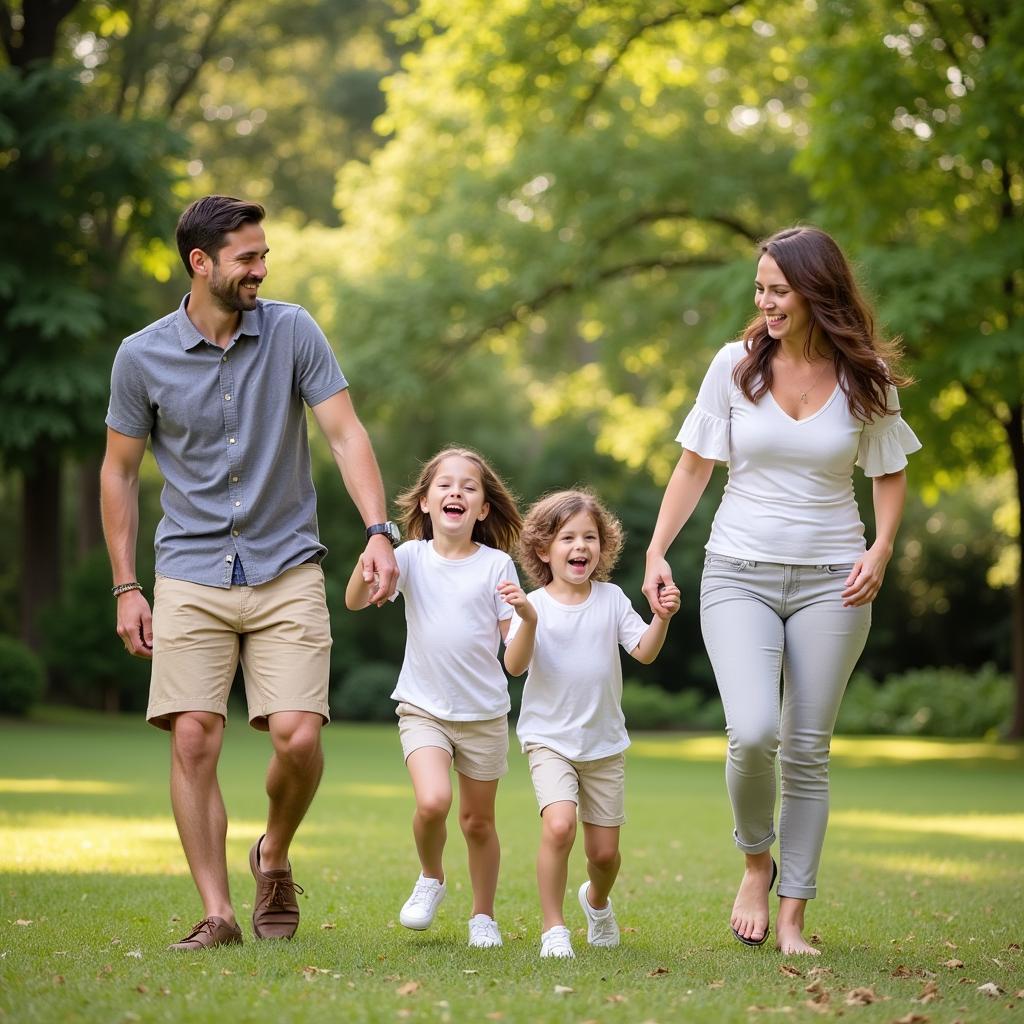
<path id="1" fill-rule="evenodd" d="M 978 673 L 918 669 L 876 684 L 855 675 L 840 709 L 837 732 L 900 736 L 992 736 L 1013 710 L 1009 676 L 986 666 Z"/>

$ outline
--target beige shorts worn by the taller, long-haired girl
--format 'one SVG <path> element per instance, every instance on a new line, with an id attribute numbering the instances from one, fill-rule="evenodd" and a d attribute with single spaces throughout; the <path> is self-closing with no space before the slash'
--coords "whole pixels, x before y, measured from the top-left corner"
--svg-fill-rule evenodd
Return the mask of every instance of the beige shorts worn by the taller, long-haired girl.
<path id="1" fill-rule="evenodd" d="M 507 715 L 483 722 L 451 722 L 434 718 L 430 712 L 403 700 L 395 708 L 395 714 L 401 753 L 407 761 L 421 746 L 439 746 L 449 752 L 460 775 L 480 782 L 494 781 L 509 770 Z"/>

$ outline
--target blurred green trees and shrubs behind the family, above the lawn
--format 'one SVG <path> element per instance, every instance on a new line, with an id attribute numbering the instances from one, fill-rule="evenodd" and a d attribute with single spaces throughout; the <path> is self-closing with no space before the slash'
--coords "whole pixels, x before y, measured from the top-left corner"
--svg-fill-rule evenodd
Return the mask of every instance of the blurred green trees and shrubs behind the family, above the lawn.
<path id="1" fill-rule="evenodd" d="M 447 441 L 524 501 L 588 483 L 638 607 L 756 241 L 834 232 L 925 442 L 846 727 L 1020 737 L 1021 39 L 1014 0 L 0 0 L 0 711 L 144 707 L 98 522 L 110 365 L 187 289 L 174 221 L 219 191 L 266 205 L 266 294 L 323 325 L 389 494 Z M 345 612 L 361 527 L 314 457 L 335 711 L 389 716 L 401 608 Z M 635 725 L 720 724 L 696 586 L 723 482 L 628 670 Z M 159 490 L 147 462 L 144 581 Z"/>

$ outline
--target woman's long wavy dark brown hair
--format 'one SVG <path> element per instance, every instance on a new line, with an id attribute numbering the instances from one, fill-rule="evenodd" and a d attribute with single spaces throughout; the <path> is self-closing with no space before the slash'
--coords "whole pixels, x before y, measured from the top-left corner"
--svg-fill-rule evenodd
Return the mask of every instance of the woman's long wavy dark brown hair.
<path id="1" fill-rule="evenodd" d="M 790 287 L 806 300 L 811 326 L 805 350 L 809 355 L 811 335 L 819 328 L 831 345 L 850 412 L 864 422 L 893 412 L 888 408 L 890 385 L 912 383 L 899 372 L 899 339 L 878 335 L 871 307 L 835 240 L 817 227 L 787 227 L 761 243 L 759 253 L 775 260 Z M 771 362 L 779 346 L 760 310 L 746 325 L 743 342 L 746 355 L 734 379 L 748 400 L 758 401 L 771 389 Z"/>

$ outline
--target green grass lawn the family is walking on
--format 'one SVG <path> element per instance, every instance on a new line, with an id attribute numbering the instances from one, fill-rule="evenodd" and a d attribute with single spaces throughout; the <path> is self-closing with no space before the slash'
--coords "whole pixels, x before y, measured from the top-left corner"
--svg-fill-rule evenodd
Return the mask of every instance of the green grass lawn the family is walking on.
<path id="1" fill-rule="evenodd" d="M 236 719 L 221 782 L 246 943 L 175 954 L 165 946 L 201 908 L 170 814 L 166 736 L 71 713 L 0 723 L 0 1020 L 1024 1024 L 1020 746 L 837 739 L 821 895 L 808 913 L 823 955 L 806 959 L 770 942 L 748 949 L 729 932 L 741 861 L 722 739 L 635 736 L 614 891 L 623 945 L 587 946 L 578 848 L 565 903 L 577 959 L 542 962 L 522 757 L 498 796 L 505 946 L 470 950 L 454 820 L 434 927 L 397 924 L 418 868 L 396 729 L 332 725 L 325 744 L 324 783 L 292 851 L 306 890 L 296 938 L 250 938 L 247 855 L 269 748 Z M 979 991 L 988 983 L 1001 992 Z"/>

